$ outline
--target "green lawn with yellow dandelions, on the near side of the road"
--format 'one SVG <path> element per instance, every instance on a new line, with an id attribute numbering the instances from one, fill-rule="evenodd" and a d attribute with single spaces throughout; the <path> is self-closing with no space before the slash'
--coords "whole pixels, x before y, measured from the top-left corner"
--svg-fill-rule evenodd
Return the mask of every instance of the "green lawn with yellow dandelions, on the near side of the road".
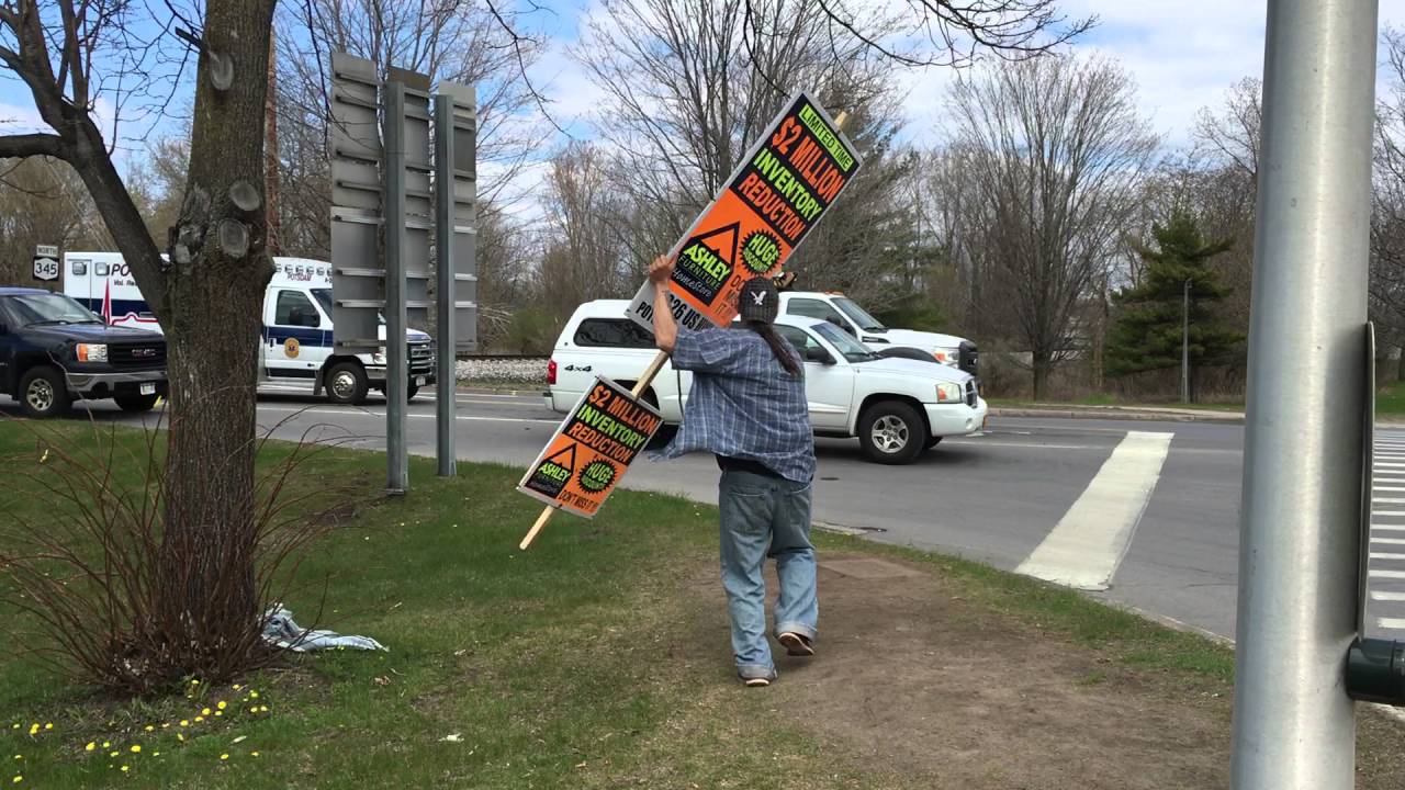
<path id="1" fill-rule="evenodd" d="M 93 443 L 84 426 L 59 430 Z M 142 453 L 140 434 L 115 437 Z M 21 423 L 0 422 L 0 458 L 34 462 L 38 453 Z M 273 446 L 264 462 L 282 453 Z M 0 758 L 22 756 L 13 760 L 22 786 L 766 787 L 785 786 L 797 766 L 826 787 L 864 786 L 853 755 L 764 694 L 735 689 L 725 613 L 676 572 L 715 565 L 714 507 L 620 492 L 593 522 L 558 517 L 524 555 L 517 541 L 537 507 L 513 491 L 517 471 L 461 464 L 459 478 L 438 479 L 431 461 L 412 460 L 413 491 L 385 500 L 384 464 L 381 454 L 327 451 L 299 474 L 302 491 L 354 491 L 357 512 L 309 558 L 285 603 L 306 626 L 325 596 L 326 627 L 372 635 L 391 652 L 315 655 L 237 690 L 192 685 L 188 696 L 135 701 L 0 658 Z M 119 478 L 136 482 L 131 465 Z M 42 523 L 49 507 L 25 491 L 0 495 L 0 517 Z M 1227 648 L 1082 593 L 858 538 L 818 543 L 926 564 L 991 623 L 1035 627 L 1031 649 L 1072 644 L 1177 689 L 1228 692 Z M 688 645 L 683 658 L 660 658 L 679 644 Z M 1103 682 L 1099 672 L 1086 685 Z M 229 706 L 216 717 L 219 700 Z M 249 711 L 263 704 L 267 713 Z M 211 715 L 194 723 L 204 707 Z M 10 777 L 0 773 L 0 784 Z"/>

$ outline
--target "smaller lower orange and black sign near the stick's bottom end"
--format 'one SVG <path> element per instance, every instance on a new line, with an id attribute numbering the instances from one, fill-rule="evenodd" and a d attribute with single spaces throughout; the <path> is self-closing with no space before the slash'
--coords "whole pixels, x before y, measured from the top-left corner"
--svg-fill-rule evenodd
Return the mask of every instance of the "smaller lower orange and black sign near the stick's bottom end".
<path id="1" fill-rule="evenodd" d="M 596 378 L 517 491 L 589 519 L 660 425 L 663 416 L 653 406 L 608 378 Z"/>

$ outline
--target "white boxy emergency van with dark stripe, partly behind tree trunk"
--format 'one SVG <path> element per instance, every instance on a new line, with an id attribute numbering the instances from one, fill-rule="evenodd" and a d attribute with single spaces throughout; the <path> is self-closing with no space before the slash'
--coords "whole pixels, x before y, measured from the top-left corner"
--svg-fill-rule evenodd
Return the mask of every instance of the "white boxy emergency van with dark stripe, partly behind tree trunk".
<path id="1" fill-rule="evenodd" d="M 362 403 L 371 389 L 385 392 L 385 349 L 374 354 L 336 353 L 332 346 L 332 264 L 274 257 L 264 294 L 259 391 L 312 394 L 333 403 Z M 112 326 L 160 332 L 136 280 L 118 253 L 63 253 L 63 292 Z M 434 384 L 434 343 L 410 329 L 409 396 Z M 385 340 L 385 322 L 379 337 Z"/>

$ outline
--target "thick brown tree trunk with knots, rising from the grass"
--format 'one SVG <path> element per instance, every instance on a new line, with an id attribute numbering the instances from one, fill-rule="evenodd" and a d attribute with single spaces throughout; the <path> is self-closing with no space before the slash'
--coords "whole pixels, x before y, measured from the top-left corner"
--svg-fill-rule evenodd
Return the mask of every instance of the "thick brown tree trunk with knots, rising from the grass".
<path id="1" fill-rule="evenodd" d="M 185 204 L 166 273 L 162 320 L 170 375 L 170 455 L 162 579 L 163 621 L 209 638 L 253 628 L 254 385 L 264 288 L 264 197 L 249 209 L 235 184 L 264 184 L 264 101 L 274 0 L 209 0 L 191 128 Z M 233 83 L 211 80 L 229 59 Z M 247 198 L 247 193 L 240 193 Z M 221 243 L 222 222 L 247 249 Z M 160 315 L 160 313 L 159 313 Z M 174 637 L 180 638 L 177 633 Z M 208 645 L 216 648 L 218 645 Z"/>

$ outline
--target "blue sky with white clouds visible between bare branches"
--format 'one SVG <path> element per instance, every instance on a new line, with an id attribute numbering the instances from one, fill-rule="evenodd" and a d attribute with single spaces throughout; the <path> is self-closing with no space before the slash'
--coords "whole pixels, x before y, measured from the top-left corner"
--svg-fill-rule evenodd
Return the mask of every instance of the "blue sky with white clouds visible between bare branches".
<path id="1" fill-rule="evenodd" d="M 540 6 L 542 10 L 524 17 L 524 24 L 548 37 L 551 46 L 532 67 L 532 79 L 552 98 L 558 121 L 576 135 L 587 135 L 601 91 L 570 62 L 566 49 L 576 41 L 583 17 L 600 11 L 599 0 L 545 0 Z M 1069 17 L 1102 18 L 1075 49 L 1116 58 L 1132 73 L 1142 111 L 1170 146 L 1189 142 L 1201 107 L 1220 105 L 1231 84 L 1263 69 L 1266 0 L 1062 0 L 1061 6 Z M 1383 27 L 1405 27 L 1405 0 L 1380 0 L 1380 8 Z M 896 73 L 908 96 L 912 139 L 936 142 L 940 136 L 951 79 L 947 69 Z M 0 79 L 4 119 L 14 122 L 0 132 L 38 127 L 22 86 Z"/>

